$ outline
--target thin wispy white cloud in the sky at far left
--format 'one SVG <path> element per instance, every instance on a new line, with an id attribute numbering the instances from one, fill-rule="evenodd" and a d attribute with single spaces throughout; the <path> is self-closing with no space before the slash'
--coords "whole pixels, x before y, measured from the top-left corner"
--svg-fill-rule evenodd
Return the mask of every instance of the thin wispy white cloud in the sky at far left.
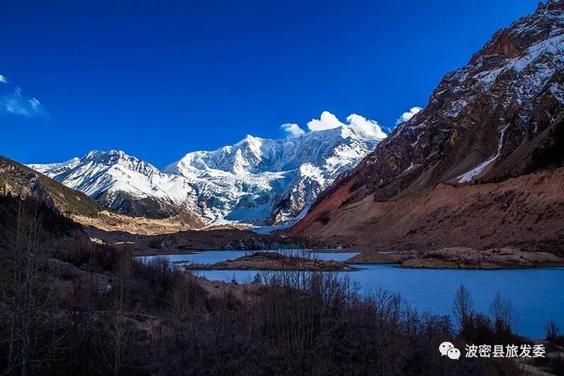
<path id="1" fill-rule="evenodd" d="M 21 87 L 14 87 L 0 74 L 0 112 L 19 116 L 47 116 L 47 111 L 38 99 L 23 96 Z"/>

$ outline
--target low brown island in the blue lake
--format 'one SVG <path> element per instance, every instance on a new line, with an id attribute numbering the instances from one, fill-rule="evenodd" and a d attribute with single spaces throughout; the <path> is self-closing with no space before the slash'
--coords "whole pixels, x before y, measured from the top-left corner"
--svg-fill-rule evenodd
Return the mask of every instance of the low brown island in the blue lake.
<path id="1" fill-rule="evenodd" d="M 311 272 L 350 272 L 356 270 L 343 262 L 318 260 L 301 255 L 281 255 L 275 252 L 257 252 L 235 260 L 214 264 L 182 263 L 184 270 L 301 270 Z"/>

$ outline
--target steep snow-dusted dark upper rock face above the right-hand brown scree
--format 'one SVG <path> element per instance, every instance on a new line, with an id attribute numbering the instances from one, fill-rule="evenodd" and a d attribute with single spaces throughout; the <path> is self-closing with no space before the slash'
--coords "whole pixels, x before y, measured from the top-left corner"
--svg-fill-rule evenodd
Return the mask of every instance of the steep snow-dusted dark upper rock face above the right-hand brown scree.
<path id="1" fill-rule="evenodd" d="M 551 0 L 446 74 L 426 108 L 341 175 L 290 232 L 308 233 L 304 223 L 321 212 L 328 223 L 367 197 L 393 201 L 440 182 L 500 182 L 561 165 L 563 114 L 564 0 Z"/>

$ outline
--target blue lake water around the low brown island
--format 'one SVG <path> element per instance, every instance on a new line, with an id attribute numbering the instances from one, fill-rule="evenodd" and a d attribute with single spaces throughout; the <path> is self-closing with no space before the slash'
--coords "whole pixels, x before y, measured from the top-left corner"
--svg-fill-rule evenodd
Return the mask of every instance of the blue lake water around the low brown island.
<path id="1" fill-rule="evenodd" d="M 171 262 L 211 263 L 238 258 L 248 251 L 204 251 L 192 255 L 167 255 Z M 324 260 L 345 261 L 354 253 L 316 253 Z M 150 259 L 150 258 L 145 258 Z M 352 265 L 355 272 L 337 272 L 358 284 L 360 292 L 380 287 L 399 292 L 419 311 L 451 314 L 455 290 L 468 288 L 475 308 L 489 313 L 490 302 L 499 291 L 509 297 L 517 314 L 517 331 L 531 338 L 544 336 L 544 324 L 553 319 L 564 330 L 564 267 L 514 270 L 406 269 L 398 265 Z M 209 280 L 250 282 L 259 271 L 203 270 Z"/>

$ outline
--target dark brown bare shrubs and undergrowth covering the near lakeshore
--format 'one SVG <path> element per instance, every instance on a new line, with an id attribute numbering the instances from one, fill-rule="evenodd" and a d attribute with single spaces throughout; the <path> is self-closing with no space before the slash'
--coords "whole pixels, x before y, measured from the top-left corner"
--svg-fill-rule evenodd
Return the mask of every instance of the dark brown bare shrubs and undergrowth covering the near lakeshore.
<path id="1" fill-rule="evenodd" d="M 501 301 L 458 324 L 331 273 L 202 282 L 162 258 L 77 236 L 46 206 L 1 202 L 0 369 L 11 375 L 515 375 L 513 361 L 441 358 L 453 341 L 519 343 Z M 48 218 L 48 221 L 45 221 Z M 49 224 L 48 224 L 49 223 Z M 57 224 L 58 223 L 58 224 Z M 62 239 L 52 247 L 46 238 Z M 500 324 L 501 323 L 501 324 Z M 505 324 L 507 323 L 507 324 Z"/>

